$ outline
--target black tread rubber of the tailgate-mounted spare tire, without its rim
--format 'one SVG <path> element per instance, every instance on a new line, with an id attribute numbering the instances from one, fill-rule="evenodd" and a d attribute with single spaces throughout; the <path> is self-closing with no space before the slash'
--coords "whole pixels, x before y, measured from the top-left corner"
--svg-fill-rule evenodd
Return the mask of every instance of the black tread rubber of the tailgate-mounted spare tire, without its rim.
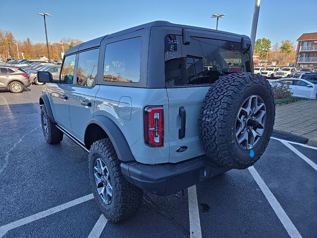
<path id="1" fill-rule="evenodd" d="M 238 143 L 235 128 L 240 108 L 253 95 L 259 95 L 264 101 L 265 126 L 257 143 L 248 149 Z M 199 137 L 211 160 L 233 169 L 246 169 L 264 153 L 272 134 L 274 118 L 273 91 L 262 75 L 228 74 L 218 79 L 206 94 L 198 119 Z"/>

